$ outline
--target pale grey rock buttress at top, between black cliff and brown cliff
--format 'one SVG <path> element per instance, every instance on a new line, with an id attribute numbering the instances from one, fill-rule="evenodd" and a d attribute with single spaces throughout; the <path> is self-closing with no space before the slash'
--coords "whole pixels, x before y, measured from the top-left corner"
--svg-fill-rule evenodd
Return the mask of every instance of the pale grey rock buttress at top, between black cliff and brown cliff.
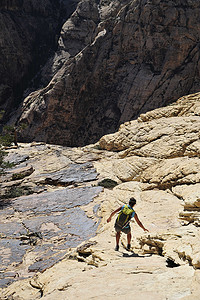
<path id="1" fill-rule="evenodd" d="M 99 10 L 96 1 L 77 1 L 77 8 L 62 26 L 58 39 L 58 49 L 54 57 L 42 70 L 42 79 L 46 84 L 63 66 L 69 57 L 73 57 L 93 40 L 99 22 Z"/>

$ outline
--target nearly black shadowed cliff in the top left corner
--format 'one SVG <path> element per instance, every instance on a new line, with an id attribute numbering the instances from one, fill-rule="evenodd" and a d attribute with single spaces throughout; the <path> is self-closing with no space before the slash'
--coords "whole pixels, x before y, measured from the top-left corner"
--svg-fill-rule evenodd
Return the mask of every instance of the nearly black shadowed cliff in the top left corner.
<path id="1" fill-rule="evenodd" d="M 56 47 L 56 34 L 75 9 L 71 0 L 0 3 L 0 109 L 6 118 Z M 69 6 L 71 6 L 69 8 Z"/>

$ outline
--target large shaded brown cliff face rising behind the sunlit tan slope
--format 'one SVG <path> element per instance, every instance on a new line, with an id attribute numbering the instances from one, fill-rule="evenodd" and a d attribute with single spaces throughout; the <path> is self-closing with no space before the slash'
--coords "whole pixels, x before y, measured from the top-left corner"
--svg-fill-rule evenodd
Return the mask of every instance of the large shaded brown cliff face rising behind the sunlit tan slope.
<path id="1" fill-rule="evenodd" d="M 80 1 L 43 70 L 53 79 L 19 110 L 22 140 L 84 145 L 199 91 L 199 12 L 195 0 Z"/>

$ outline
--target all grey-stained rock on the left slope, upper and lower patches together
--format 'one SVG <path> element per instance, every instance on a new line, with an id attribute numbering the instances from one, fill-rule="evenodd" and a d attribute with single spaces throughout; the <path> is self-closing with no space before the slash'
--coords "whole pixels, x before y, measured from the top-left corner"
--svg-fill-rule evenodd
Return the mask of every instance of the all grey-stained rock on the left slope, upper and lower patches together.
<path id="1" fill-rule="evenodd" d="M 44 151 L 47 147 L 39 149 Z M 2 176 L 6 180 L 2 183 L 2 190 L 8 190 L 16 184 L 12 180 L 13 174 L 23 174 L 17 180 L 18 187 L 23 186 L 23 181 L 28 180 L 30 175 L 34 176 L 35 169 L 30 167 L 28 155 L 11 153 L 6 159 L 11 159 L 16 165 Z M 27 165 L 21 167 L 24 161 Z M 38 168 L 37 165 L 35 168 Z M 30 169 L 31 172 L 25 172 Z M 69 168 L 49 172 L 45 176 L 46 188 L 36 185 L 39 175 L 34 177 L 36 182 L 32 189 L 34 191 L 37 188 L 38 194 L 15 198 L 11 194 L 11 198 L 6 199 L 7 194 L 1 195 L 0 287 L 30 277 L 35 272 L 43 272 L 63 258 L 69 248 L 95 235 L 99 218 L 97 215 L 95 220 L 88 218 L 81 209 L 93 202 L 102 191 L 100 186 L 91 186 L 90 182 L 98 177 L 92 163 L 70 164 Z M 88 186 L 78 186 L 84 182 Z M 71 186 L 59 188 L 59 185 Z M 48 191 L 50 186 L 53 190 Z M 26 265 L 30 253 L 32 259 Z"/>

